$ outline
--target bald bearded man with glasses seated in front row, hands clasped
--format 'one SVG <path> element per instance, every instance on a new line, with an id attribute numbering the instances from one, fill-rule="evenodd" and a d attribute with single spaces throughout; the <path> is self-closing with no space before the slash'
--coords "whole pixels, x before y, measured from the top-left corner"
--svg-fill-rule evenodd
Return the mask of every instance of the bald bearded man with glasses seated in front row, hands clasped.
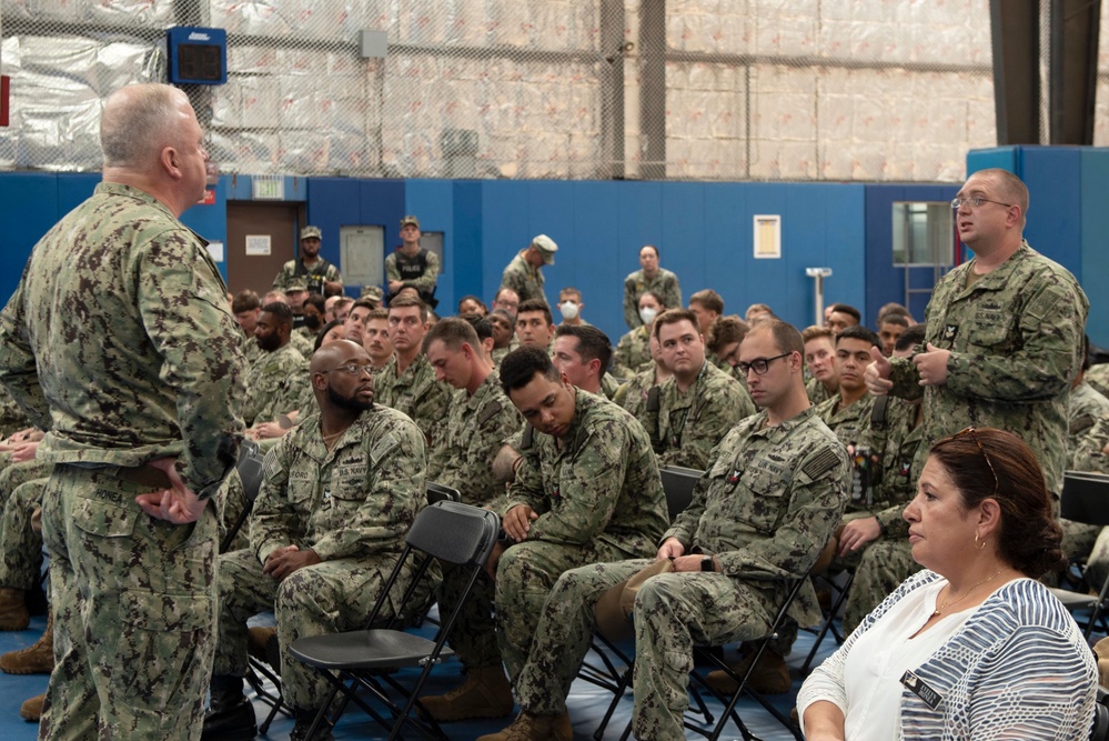
<path id="1" fill-rule="evenodd" d="M 250 549 L 220 557 L 220 641 L 204 720 L 211 738 L 254 737 L 241 679 L 246 620 L 271 609 L 282 695 L 296 715 L 290 738 L 303 738 L 327 683 L 289 647 L 364 624 L 425 501 L 423 434 L 404 414 L 373 403 L 366 351 L 349 340 L 320 348 L 312 388 L 320 414 L 265 457 Z"/>

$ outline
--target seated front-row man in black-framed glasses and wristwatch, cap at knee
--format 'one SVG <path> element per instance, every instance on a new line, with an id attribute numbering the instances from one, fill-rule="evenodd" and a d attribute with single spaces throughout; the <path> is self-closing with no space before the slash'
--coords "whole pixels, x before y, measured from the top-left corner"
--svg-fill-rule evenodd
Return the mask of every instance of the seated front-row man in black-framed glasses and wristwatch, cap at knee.
<path id="1" fill-rule="evenodd" d="M 760 322 L 739 352 L 763 411 L 716 448 L 693 502 L 657 550 L 674 572 L 645 581 L 635 599 L 638 739 L 685 737 L 693 645 L 765 634 L 789 580 L 808 573 L 843 512 L 850 463 L 809 407 L 800 334 L 782 321 Z M 565 699 L 593 637 L 597 600 L 649 563 L 594 563 L 558 579 L 516 682 L 523 712 L 478 741 L 571 738 Z M 816 595 L 810 583 L 803 590 L 790 614 L 809 624 L 819 617 Z"/>

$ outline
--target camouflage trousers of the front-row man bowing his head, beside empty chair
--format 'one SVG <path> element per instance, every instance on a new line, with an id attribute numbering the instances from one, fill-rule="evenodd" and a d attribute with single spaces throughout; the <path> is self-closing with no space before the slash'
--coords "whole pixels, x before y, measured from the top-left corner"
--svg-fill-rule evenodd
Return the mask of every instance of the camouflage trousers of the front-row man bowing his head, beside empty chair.
<path id="1" fill-rule="evenodd" d="M 514 683 L 532 650 L 543 604 L 558 577 L 568 569 L 632 555 L 609 547 L 516 543 L 501 555 L 496 571 L 497 641 L 508 679 Z"/>

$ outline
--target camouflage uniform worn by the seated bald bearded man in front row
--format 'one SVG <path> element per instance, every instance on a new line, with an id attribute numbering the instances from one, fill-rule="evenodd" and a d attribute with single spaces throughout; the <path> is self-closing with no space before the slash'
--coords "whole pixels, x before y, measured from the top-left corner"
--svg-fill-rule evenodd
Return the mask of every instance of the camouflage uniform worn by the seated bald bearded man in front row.
<path id="1" fill-rule="evenodd" d="M 289 647 L 298 638 L 365 624 L 425 502 L 425 465 L 419 428 L 380 405 L 363 412 L 330 451 L 315 415 L 282 438 L 265 457 L 250 549 L 220 557 L 213 673 L 246 674 L 246 620 L 273 610 L 282 694 L 294 708 L 316 708 L 327 683 Z M 312 549 L 322 563 L 280 582 L 263 574 L 265 559 L 291 544 Z"/>

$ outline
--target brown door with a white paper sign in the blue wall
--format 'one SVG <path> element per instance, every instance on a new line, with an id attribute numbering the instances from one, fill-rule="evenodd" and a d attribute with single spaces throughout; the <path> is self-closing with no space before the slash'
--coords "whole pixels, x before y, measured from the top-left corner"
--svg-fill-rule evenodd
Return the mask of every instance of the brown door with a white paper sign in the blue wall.
<path id="1" fill-rule="evenodd" d="M 298 230 L 304 220 L 303 203 L 258 203 L 228 201 L 228 288 L 232 293 L 243 289 L 255 291 L 259 298 L 273 286 L 281 266 L 296 254 Z M 269 237 L 269 254 L 263 251 Z M 248 254 L 248 238 L 252 253 Z"/>

